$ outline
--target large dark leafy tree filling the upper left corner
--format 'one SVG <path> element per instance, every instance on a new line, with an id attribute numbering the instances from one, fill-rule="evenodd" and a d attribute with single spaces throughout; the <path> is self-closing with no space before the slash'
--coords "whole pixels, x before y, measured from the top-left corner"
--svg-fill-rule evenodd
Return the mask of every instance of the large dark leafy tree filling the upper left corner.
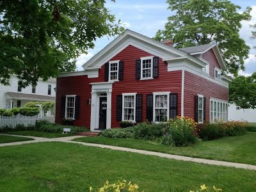
<path id="1" fill-rule="evenodd" d="M 21 86 L 74 70 L 93 40 L 123 28 L 104 0 L 0 0 L 0 83 Z M 70 60 L 73 60 L 70 62 Z"/>

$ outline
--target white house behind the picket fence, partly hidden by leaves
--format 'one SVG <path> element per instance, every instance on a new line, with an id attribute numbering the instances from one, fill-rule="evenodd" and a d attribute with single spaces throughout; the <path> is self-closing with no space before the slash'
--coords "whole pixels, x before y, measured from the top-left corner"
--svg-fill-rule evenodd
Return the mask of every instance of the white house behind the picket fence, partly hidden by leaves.
<path id="1" fill-rule="evenodd" d="M 36 86 L 21 88 L 16 76 L 10 77 L 10 86 L 0 84 L 0 109 L 23 107 L 31 101 L 55 101 L 56 79 L 38 80 Z"/>

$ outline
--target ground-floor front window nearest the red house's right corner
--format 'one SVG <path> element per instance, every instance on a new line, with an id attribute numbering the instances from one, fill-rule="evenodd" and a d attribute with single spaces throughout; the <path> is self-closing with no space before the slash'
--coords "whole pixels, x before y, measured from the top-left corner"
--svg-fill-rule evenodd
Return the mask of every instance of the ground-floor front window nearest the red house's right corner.
<path id="1" fill-rule="evenodd" d="M 153 121 L 165 122 L 169 119 L 170 92 L 153 93 Z"/>

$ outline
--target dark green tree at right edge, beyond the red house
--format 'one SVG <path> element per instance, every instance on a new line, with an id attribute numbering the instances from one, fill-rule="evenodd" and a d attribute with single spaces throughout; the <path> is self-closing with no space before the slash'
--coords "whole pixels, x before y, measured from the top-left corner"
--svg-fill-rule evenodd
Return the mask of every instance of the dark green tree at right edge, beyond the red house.
<path id="1" fill-rule="evenodd" d="M 238 109 L 256 109 L 256 72 L 252 76 L 237 76 L 229 84 L 229 102 Z"/>

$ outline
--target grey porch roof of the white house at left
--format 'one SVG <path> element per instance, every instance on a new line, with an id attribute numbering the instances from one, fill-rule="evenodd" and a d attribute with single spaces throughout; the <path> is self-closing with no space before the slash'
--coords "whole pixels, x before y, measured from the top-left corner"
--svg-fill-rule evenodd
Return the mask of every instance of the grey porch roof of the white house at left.
<path id="1" fill-rule="evenodd" d="M 46 95 L 35 95 L 35 94 L 15 93 L 15 92 L 6 92 L 5 94 L 11 97 L 12 99 L 40 100 L 40 101 L 55 100 L 55 97 L 46 96 Z"/>

